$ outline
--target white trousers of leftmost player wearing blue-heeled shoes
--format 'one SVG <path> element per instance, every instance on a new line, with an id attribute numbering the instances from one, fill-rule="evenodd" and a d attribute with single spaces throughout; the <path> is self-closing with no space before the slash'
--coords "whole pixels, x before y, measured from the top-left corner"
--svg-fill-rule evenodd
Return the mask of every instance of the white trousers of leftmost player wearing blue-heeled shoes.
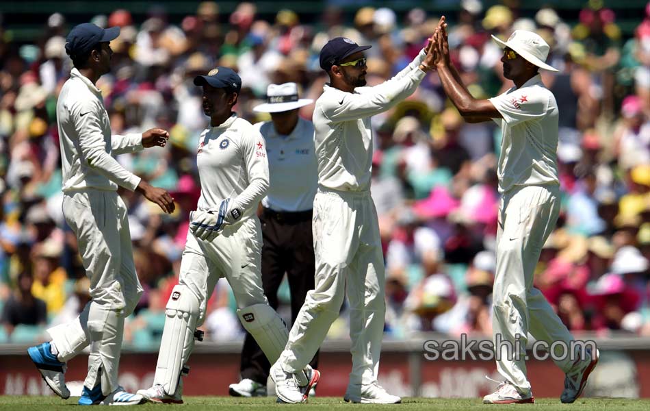
<path id="1" fill-rule="evenodd" d="M 116 191 L 66 192 L 63 214 L 77 236 L 91 301 L 77 319 L 48 329 L 58 358 L 66 362 L 90 344 L 84 386 L 101 380 L 103 395 L 118 388 L 124 319 L 135 309 L 142 286 L 135 274 L 127 207 Z"/>

